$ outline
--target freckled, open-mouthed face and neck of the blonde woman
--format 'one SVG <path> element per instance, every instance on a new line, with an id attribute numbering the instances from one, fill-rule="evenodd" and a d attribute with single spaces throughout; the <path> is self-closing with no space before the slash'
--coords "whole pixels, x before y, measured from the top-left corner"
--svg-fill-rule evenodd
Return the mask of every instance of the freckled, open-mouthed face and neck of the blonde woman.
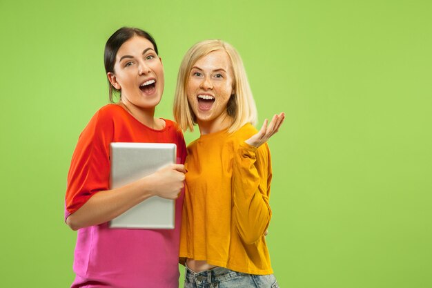
<path id="1" fill-rule="evenodd" d="M 188 102 L 200 129 L 201 126 L 226 128 L 232 121 L 226 106 L 233 95 L 233 67 L 228 54 L 224 50 L 208 53 L 195 62 L 188 77 Z"/>

